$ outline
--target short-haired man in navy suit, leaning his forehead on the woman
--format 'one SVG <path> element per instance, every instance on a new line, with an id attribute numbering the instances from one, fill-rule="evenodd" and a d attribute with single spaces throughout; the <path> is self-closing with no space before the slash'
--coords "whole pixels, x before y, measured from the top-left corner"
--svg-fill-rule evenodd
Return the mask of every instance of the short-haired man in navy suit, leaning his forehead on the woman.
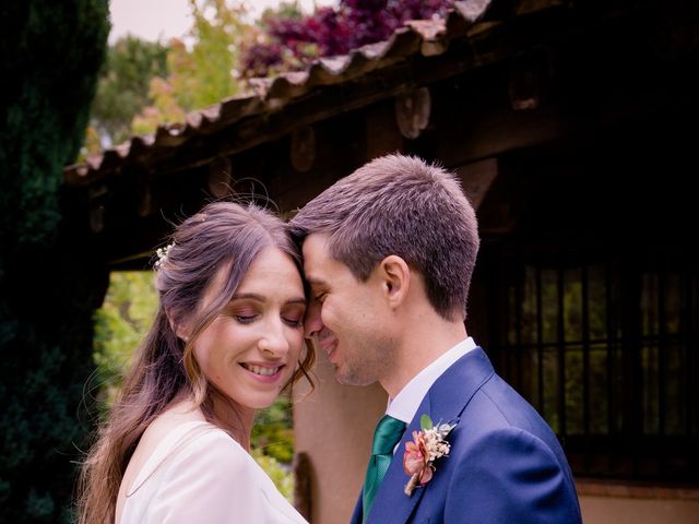
<path id="1" fill-rule="evenodd" d="M 556 436 L 466 334 L 479 240 L 458 180 L 384 156 L 291 225 L 310 286 L 307 335 L 337 381 L 378 381 L 389 395 L 352 522 L 580 523 Z"/>

